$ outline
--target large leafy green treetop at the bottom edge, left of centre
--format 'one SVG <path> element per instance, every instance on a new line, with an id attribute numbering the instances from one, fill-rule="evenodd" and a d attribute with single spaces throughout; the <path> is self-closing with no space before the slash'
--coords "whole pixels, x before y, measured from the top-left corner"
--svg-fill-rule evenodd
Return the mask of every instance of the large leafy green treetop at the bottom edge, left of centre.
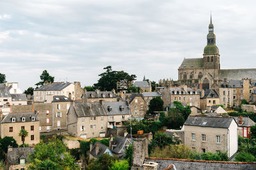
<path id="1" fill-rule="evenodd" d="M 76 160 L 66 152 L 66 146 L 55 136 L 48 143 L 38 143 L 29 155 L 29 169 L 79 169 Z"/>

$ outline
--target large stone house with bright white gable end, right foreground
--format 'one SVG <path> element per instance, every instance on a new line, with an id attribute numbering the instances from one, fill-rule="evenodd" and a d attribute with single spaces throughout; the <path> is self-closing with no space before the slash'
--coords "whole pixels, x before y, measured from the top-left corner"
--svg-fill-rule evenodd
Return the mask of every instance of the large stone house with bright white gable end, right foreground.
<path id="1" fill-rule="evenodd" d="M 184 123 L 184 145 L 194 152 L 237 152 L 237 123 L 232 117 L 188 117 Z"/>

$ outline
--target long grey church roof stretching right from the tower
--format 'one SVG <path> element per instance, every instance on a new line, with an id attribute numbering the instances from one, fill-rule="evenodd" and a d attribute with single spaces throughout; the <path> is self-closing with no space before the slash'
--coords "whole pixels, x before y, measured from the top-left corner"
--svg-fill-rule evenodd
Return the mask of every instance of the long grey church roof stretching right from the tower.
<path id="1" fill-rule="evenodd" d="M 256 80 L 256 69 L 220 69 L 219 78 L 241 80 L 242 78 L 252 78 Z"/>

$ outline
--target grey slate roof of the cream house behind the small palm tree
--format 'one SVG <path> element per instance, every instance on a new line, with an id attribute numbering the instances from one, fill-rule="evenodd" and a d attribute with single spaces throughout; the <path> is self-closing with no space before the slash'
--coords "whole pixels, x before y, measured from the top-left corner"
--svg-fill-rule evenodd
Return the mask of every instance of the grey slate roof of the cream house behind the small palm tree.
<path id="1" fill-rule="evenodd" d="M 12 123 L 11 118 L 15 118 L 15 122 L 22 122 L 22 120 L 21 120 L 22 117 L 26 118 L 26 122 L 33 122 L 31 120 L 31 117 L 35 117 L 35 121 L 39 121 L 38 115 L 33 112 L 31 112 L 31 113 L 8 113 L 1 121 L 1 124 Z"/>

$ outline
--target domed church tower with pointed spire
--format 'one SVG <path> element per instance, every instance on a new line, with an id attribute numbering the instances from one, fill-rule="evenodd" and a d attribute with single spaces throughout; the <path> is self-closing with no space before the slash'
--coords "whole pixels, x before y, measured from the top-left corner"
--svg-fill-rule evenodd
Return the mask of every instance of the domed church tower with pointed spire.
<path id="1" fill-rule="evenodd" d="M 204 48 L 204 70 L 211 74 L 214 78 L 218 77 L 220 69 L 219 48 L 216 46 L 216 36 L 214 34 L 214 26 L 209 24 L 209 33 L 207 34 L 207 46 Z"/>

